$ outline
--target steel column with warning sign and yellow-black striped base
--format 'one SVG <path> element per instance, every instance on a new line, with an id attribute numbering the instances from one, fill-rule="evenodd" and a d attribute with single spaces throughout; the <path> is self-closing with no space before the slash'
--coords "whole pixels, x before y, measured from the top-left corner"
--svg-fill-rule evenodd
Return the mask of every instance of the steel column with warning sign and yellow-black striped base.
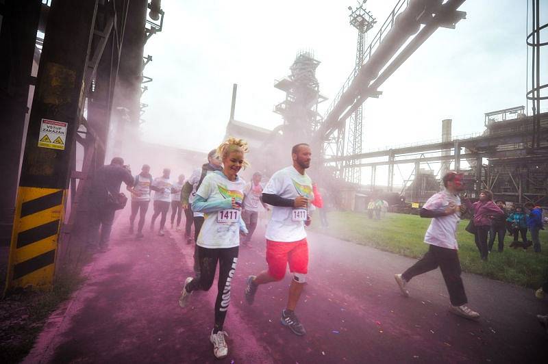
<path id="1" fill-rule="evenodd" d="M 96 11 L 97 0 L 51 5 L 18 187 L 8 287 L 47 288 L 53 282 Z M 43 120 L 59 123 L 63 145 L 39 146 Z"/>

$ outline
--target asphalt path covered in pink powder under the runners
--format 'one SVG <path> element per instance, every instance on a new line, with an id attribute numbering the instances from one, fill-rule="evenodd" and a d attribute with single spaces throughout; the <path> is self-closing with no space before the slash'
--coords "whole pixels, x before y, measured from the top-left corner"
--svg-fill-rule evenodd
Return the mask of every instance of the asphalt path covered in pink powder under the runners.
<path id="1" fill-rule="evenodd" d="M 308 283 L 297 306 L 307 335 L 279 322 L 291 276 L 260 286 L 245 302 L 245 278 L 266 268 L 264 226 L 240 247 L 225 321 L 229 354 L 214 359 L 209 334 L 216 283 L 177 299 L 192 275 L 182 233 L 127 233 L 116 219 L 110 250 L 95 255 L 86 283 L 51 315 L 27 363 L 546 363 L 548 337 L 536 315 L 547 300 L 532 289 L 463 274 L 473 322 L 447 311 L 439 270 L 414 278 L 404 298 L 394 281 L 414 259 L 309 233 Z"/>

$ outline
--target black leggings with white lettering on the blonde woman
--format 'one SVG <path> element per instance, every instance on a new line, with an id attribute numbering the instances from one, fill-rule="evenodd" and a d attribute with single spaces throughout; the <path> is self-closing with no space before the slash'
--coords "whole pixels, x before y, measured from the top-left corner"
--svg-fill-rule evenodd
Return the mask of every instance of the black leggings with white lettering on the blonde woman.
<path id="1" fill-rule="evenodd" d="M 219 281 L 217 282 L 217 299 L 215 300 L 215 326 L 213 333 L 223 330 L 225 317 L 230 304 L 230 287 L 236 263 L 238 262 L 239 247 L 234 248 L 203 248 L 198 247 L 200 257 L 200 276 L 192 279 L 186 285 L 186 291 L 208 291 L 213 285 L 217 261 L 219 261 Z"/>

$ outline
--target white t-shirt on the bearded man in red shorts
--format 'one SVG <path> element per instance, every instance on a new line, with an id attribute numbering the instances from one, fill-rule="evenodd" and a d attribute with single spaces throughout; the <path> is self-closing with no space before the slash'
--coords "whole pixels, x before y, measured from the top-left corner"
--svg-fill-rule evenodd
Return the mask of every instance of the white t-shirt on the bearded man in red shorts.
<path id="1" fill-rule="evenodd" d="M 295 167 L 290 166 L 275 172 L 266 184 L 263 194 L 277 194 L 282 198 L 295 199 L 297 196 L 314 200 L 312 180 L 308 174 L 300 174 Z M 272 207 L 272 217 L 266 227 L 266 239 L 274 242 L 298 242 L 306 237 L 304 221 L 295 220 L 293 214 L 300 212 L 292 207 Z"/>

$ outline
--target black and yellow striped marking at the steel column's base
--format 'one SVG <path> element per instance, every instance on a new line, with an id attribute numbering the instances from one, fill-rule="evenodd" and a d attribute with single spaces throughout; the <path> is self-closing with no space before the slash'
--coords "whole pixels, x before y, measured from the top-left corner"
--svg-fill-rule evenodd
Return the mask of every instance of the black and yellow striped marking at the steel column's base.
<path id="1" fill-rule="evenodd" d="M 64 198 L 65 190 L 19 187 L 8 288 L 51 287 Z"/>

